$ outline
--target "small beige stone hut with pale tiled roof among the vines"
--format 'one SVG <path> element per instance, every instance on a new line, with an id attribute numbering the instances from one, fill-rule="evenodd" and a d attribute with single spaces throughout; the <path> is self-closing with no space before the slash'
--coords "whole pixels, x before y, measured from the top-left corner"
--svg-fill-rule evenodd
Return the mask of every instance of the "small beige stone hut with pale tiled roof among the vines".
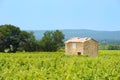
<path id="1" fill-rule="evenodd" d="M 65 53 L 89 56 L 98 55 L 98 42 L 92 38 L 74 37 L 65 42 Z"/>

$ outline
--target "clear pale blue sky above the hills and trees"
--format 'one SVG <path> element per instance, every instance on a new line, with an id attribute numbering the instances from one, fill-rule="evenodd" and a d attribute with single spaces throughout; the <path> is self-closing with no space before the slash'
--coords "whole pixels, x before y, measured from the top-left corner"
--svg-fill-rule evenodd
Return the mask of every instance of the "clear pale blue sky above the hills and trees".
<path id="1" fill-rule="evenodd" d="M 0 25 L 22 30 L 120 30 L 120 0 L 0 0 Z"/>

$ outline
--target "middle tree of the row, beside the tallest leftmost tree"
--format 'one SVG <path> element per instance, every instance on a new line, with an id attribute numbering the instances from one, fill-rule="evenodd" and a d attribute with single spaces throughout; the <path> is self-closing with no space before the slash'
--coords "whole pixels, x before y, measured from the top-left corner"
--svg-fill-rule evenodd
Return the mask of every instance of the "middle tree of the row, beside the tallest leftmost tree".
<path id="1" fill-rule="evenodd" d="M 19 50 L 36 51 L 37 45 L 33 32 L 21 31 Z"/>

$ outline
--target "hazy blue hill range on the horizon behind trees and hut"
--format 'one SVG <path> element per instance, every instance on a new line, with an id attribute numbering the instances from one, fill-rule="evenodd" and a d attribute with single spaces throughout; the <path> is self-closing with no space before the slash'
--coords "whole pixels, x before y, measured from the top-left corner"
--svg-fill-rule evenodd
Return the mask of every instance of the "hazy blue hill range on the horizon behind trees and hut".
<path id="1" fill-rule="evenodd" d="M 36 39 L 41 39 L 46 30 L 33 31 Z M 65 40 L 72 37 L 91 37 L 102 44 L 120 44 L 120 31 L 95 31 L 87 29 L 65 29 L 61 30 L 65 34 Z"/>

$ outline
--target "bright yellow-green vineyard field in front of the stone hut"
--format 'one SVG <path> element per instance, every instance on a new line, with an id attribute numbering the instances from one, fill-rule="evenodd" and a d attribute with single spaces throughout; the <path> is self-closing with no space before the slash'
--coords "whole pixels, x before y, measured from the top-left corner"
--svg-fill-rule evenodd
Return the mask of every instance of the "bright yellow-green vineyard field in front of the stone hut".
<path id="1" fill-rule="evenodd" d="M 120 51 L 100 50 L 97 57 L 0 53 L 0 80 L 120 80 Z"/>

